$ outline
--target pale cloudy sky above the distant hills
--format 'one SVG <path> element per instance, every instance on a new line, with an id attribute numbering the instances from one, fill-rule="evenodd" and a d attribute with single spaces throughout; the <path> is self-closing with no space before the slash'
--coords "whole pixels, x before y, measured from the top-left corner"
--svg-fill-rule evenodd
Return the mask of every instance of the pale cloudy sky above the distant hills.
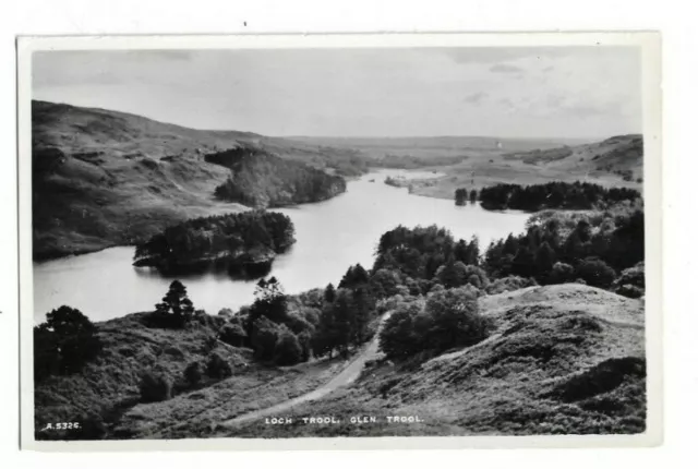
<path id="1" fill-rule="evenodd" d="M 641 133 L 636 47 L 40 51 L 33 98 L 288 136 Z"/>

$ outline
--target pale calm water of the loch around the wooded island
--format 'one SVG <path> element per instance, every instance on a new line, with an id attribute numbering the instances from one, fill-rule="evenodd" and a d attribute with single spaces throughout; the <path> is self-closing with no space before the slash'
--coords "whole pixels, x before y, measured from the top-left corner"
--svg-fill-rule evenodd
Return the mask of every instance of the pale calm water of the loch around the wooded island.
<path id="1" fill-rule="evenodd" d="M 278 209 L 293 220 L 297 242 L 276 258 L 269 275 L 276 276 L 288 293 L 324 287 L 329 281 L 336 285 L 350 265 L 361 263 L 370 268 L 381 234 L 398 225 L 436 224 L 448 228 L 456 239 L 474 234 L 481 249 L 525 228 L 528 214 L 488 212 L 476 205 L 458 207 L 453 201 L 411 195 L 407 189 L 384 184 L 388 175 L 434 176 L 399 170 L 372 172 L 348 182 L 347 192 L 329 201 Z M 44 321 L 47 312 L 62 304 L 77 308 L 93 321 L 152 311 L 172 278 L 134 268 L 133 251 L 111 248 L 35 263 L 35 320 Z M 251 303 L 256 284 L 232 280 L 224 274 L 178 278 L 186 286 L 194 306 L 209 314 Z"/>

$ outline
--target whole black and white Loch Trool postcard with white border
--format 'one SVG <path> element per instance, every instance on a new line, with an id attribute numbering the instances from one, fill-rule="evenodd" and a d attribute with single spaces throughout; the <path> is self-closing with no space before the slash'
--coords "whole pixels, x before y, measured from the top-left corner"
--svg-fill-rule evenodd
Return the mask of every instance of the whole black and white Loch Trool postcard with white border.
<path id="1" fill-rule="evenodd" d="M 33 447 L 661 431 L 658 37 L 419 36 L 20 45 Z"/>

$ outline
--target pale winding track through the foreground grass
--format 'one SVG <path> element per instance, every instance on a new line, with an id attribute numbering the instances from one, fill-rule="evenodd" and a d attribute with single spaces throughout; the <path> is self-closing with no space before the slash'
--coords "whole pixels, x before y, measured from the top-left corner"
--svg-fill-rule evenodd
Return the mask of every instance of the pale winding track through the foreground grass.
<path id="1" fill-rule="evenodd" d="M 289 409 L 292 409 L 299 404 L 304 404 L 304 402 L 310 402 L 312 400 L 321 399 L 326 395 L 328 395 L 329 393 L 336 390 L 337 388 L 347 386 L 353 383 L 361 374 L 361 370 L 363 370 L 363 365 L 366 363 L 366 361 L 371 360 L 378 353 L 378 333 L 387 317 L 388 317 L 388 314 L 385 314 L 381 318 L 381 326 L 378 327 L 378 330 L 375 333 L 375 336 L 371 340 L 371 344 L 369 344 L 369 346 L 357 358 L 354 358 L 351 363 L 349 363 L 339 374 L 333 377 L 329 382 L 320 386 L 315 390 L 294 397 L 293 399 L 277 404 L 276 406 L 267 407 L 266 409 L 253 410 L 252 412 L 243 413 L 233 419 L 220 422 L 218 426 L 231 428 L 234 425 L 239 425 L 241 423 L 250 422 L 252 420 L 262 419 L 264 417 L 276 416 Z"/>

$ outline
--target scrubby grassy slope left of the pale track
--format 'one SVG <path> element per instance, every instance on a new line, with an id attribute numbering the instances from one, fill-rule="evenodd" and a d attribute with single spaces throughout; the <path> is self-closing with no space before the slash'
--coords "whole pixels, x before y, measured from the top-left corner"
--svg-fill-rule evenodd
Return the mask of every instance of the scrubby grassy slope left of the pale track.
<path id="1" fill-rule="evenodd" d="M 76 374 L 51 376 L 35 388 L 35 425 L 48 422 L 84 422 L 99 414 L 108 437 L 178 437 L 209 431 L 219 418 L 232 418 L 256 406 L 272 406 L 312 390 L 338 372 L 344 362 L 323 360 L 280 369 L 252 359 L 252 350 L 216 342 L 215 327 L 195 324 L 184 330 L 145 327 L 139 317 L 97 323 L 105 350 Z M 192 361 L 205 364 L 212 352 L 224 357 L 233 375 L 224 381 L 207 378 L 198 388 L 186 388 L 184 368 Z M 176 396 L 164 402 L 139 404 L 144 372 L 168 376 Z M 40 433 L 39 437 L 57 437 Z"/>

